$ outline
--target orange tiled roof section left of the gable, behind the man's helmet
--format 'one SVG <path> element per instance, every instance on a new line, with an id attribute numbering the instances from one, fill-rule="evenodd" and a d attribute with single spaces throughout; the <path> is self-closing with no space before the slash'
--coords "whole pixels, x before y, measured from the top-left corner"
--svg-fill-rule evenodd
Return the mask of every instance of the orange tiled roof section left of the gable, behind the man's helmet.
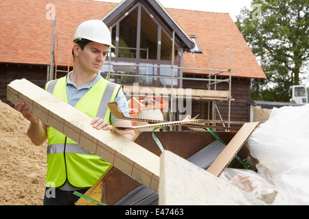
<path id="1" fill-rule="evenodd" d="M 49 3 L 56 9 L 56 61 L 64 66 L 72 64 L 71 38 L 76 27 L 83 21 L 102 18 L 117 5 L 72 0 L 4 1 L 0 7 L 0 62 L 50 64 L 53 21 L 46 18 Z"/>

